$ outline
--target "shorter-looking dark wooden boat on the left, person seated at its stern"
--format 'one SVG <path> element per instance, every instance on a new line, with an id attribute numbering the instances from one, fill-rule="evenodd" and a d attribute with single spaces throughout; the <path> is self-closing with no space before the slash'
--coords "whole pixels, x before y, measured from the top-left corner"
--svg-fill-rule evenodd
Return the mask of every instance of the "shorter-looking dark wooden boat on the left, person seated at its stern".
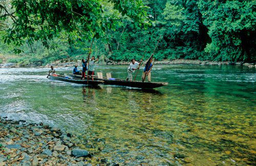
<path id="1" fill-rule="evenodd" d="M 77 78 L 70 78 L 67 76 L 60 76 L 57 74 L 50 75 L 50 79 L 72 82 L 72 83 L 76 83 L 76 84 L 84 84 L 84 85 L 89 85 L 89 86 L 97 86 L 99 84 L 103 84 L 103 82 L 104 82 L 102 80 L 88 80 L 88 81 L 87 81 L 87 79 L 81 80 L 81 79 L 77 79 Z"/>

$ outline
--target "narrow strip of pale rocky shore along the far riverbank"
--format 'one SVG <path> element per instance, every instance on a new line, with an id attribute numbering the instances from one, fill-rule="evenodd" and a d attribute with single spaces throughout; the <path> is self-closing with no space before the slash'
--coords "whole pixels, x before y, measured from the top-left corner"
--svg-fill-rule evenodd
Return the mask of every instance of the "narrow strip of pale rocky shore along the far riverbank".
<path id="1" fill-rule="evenodd" d="M 146 62 L 144 61 L 143 64 Z M 4 63 L 0 64 L 0 68 L 17 68 L 17 67 L 39 67 L 39 68 L 49 68 L 51 65 L 55 67 L 69 67 L 69 66 L 74 66 L 75 64 L 80 64 L 80 60 L 77 61 L 68 61 L 68 60 L 58 60 L 53 62 L 52 64 L 47 64 L 46 66 L 37 66 L 37 65 L 27 65 L 27 66 L 20 66 L 15 63 Z M 100 61 L 98 64 L 100 65 L 129 65 L 130 62 L 127 61 L 120 61 L 120 62 L 115 62 L 115 61 Z M 243 61 L 239 62 L 232 62 L 232 61 L 209 61 L 209 60 L 190 60 L 190 59 L 175 59 L 175 60 L 161 60 L 161 61 L 154 61 L 154 64 L 157 65 L 243 65 L 247 66 L 249 68 L 256 68 L 256 63 L 245 63 Z"/>

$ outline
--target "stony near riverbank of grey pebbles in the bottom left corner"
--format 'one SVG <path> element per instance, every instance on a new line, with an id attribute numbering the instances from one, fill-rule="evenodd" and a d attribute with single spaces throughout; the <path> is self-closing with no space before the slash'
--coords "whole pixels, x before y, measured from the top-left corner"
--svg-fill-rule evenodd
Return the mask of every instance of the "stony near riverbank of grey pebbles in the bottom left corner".
<path id="1" fill-rule="evenodd" d="M 75 135 L 44 123 L 0 117 L 0 165 L 92 165 L 106 163 L 80 149 Z M 98 160 L 98 161 L 97 161 Z M 109 165 L 118 165 L 108 163 Z"/>

